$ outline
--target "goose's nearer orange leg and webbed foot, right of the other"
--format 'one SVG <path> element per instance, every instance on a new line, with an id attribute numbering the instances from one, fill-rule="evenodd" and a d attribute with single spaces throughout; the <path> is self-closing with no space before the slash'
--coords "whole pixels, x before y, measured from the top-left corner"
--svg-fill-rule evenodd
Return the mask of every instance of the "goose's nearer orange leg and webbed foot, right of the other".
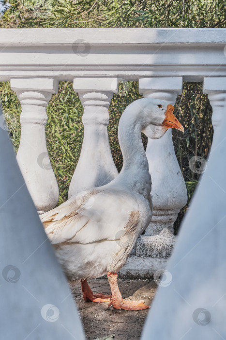
<path id="1" fill-rule="evenodd" d="M 109 281 L 109 285 L 111 287 L 112 299 L 111 302 L 108 304 L 108 307 L 111 305 L 115 309 L 126 309 L 126 310 L 140 310 L 150 308 L 144 304 L 144 301 L 127 301 L 122 300 L 121 292 L 118 287 L 118 274 L 115 272 L 107 272 L 107 278 Z"/>

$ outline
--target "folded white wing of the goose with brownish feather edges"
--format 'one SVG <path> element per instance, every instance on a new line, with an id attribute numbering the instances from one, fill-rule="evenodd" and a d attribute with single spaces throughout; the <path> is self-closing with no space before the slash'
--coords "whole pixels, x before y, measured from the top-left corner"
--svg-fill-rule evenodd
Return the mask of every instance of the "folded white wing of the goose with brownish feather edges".
<path id="1" fill-rule="evenodd" d="M 126 238 L 140 223 L 136 197 L 124 190 L 93 189 L 40 216 L 51 243 L 87 244 Z"/>

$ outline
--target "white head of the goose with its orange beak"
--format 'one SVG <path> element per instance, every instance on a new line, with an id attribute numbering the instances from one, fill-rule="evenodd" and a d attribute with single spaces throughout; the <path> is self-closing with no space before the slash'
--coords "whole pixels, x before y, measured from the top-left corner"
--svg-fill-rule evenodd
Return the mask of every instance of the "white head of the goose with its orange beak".
<path id="1" fill-rule="evenodd" d="M 169 128 L 184 132 L 179 120 L 174 116 L 173 105 L 155 98 L 142 98 L 136 101 L 139 107 L 141 132 L 151 139 L 161 138 Z"/>

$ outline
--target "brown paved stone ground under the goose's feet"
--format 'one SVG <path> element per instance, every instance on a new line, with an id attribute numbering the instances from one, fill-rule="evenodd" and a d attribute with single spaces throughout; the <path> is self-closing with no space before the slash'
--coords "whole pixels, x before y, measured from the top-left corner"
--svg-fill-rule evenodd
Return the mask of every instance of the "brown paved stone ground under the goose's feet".
<path id="1" fill-rule="evenodd" d="M 89 280 L 88 282 L 94 293 L 110 294 L 107 279 Z M 119 279 L 118 283 L 123 299 L 144 300 L 146 305 L 151 304 L 156 291 L 154 281 Z M 80 286 L 71 283 L 71 289 L 87 339 L 140 339 L 148 309 L 130 311 L 107 308 L 106 303 L 84 302 Z"/>

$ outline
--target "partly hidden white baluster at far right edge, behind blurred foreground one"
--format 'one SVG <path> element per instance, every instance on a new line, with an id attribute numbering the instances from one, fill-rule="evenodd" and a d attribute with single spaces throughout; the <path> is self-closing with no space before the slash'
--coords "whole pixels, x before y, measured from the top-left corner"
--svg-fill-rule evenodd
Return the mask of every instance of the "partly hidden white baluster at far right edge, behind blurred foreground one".
<path id="1" fill-rule="evenodd" d="M 211 152 L 213 152 L 218 145 L 219 130 L 226 114 L 226 77 L 204 78 L 203 93 L 208 94 L 212 106 L 212 126 L 214 134 Z"/>

